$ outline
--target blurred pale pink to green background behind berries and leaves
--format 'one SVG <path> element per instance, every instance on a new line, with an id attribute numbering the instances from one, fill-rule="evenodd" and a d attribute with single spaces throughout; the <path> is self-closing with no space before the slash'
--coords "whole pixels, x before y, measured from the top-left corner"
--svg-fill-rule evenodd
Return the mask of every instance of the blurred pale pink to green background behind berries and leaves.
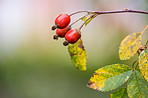
<path id="1" fill-rule="evenodd" d="M 120 61 L 118 47 L 148 24 L 142 14 L 101 15 L 82 28 L 87 71 L 70 61 L 64 39 L 52 39 L 54 19 L 79 10 L 148 10 L 148 0 L 0 0 L 0 98 L 109 98 L 86 87 L 93 72 Z M 72 16 L 72 21 L 83 14 Z M 78 28 L 82 21 L 75 24 Z M 146 41 L 148 31 L 143 35 Z"/>

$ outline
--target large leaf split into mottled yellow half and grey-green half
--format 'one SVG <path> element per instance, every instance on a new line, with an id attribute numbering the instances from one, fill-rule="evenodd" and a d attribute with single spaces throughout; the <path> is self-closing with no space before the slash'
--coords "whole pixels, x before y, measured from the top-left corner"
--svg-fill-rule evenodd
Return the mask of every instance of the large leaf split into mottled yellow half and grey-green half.
<path id="1" fill-rule="evenodd" d="M 125 83 L 131 74 L 132 69 L 127 65 L 108 65 L 95 71 L 87 86 L 103 92 L 110 91 Z"/>

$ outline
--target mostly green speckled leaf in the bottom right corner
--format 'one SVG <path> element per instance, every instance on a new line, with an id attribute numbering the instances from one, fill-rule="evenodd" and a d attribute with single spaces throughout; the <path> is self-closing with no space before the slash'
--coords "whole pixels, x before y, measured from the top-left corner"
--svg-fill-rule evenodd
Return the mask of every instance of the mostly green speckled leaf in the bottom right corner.
<path id="1" fill-rule="evenodd" d="M 130 98 L 148 98 L 148 82 L 138 71 L 133 71 L 127 85 L 127 93 Z"/>

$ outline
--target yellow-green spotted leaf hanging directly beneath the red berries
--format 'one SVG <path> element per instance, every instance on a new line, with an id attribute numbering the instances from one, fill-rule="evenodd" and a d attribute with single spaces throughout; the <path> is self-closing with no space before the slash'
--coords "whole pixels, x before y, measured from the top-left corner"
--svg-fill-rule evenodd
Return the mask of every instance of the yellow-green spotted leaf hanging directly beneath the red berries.
<path id="1" fill-rule="evenodd" d="M 87 54 L 84 49 L 82 40 L 79 39 L 75 44 L 69 44 L 68 51 L 75 67 L 80 71 L 86 71 Z"/>

